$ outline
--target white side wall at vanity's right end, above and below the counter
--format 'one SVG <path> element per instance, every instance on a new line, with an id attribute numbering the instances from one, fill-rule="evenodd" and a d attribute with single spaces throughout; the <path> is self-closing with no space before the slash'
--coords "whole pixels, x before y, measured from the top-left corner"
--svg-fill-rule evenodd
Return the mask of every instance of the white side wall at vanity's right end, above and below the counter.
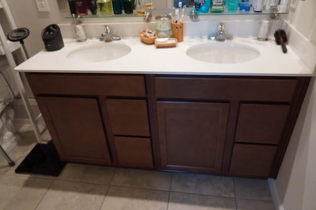
<path id="1" fill-rule="evenodd" d="M 299 1 L 289 14 L 290 45 L 315 66 L 316 1 Z M 278 177 L 269 182 L 276 210 L 316 210 L 316 81 L 312 79 Z"/>

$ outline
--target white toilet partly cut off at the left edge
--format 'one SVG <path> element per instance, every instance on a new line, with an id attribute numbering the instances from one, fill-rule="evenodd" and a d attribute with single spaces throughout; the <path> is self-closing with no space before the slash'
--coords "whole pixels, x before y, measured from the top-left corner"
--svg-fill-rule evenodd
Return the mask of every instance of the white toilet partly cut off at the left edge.
<path id="1" fill-rule="evenodd" d="M 0 73 L 0 145 L 3 150 L 10 153 L 21 138 L 15 133 L 13 126 L 14 110 L 10 104 L 12 94 L 9 88 L 14 96 L 16 96 L 19 91 L 5 56 L 0 56 Z M 0 155 L 0 162 L 3 159 L 4 158 Z"/>

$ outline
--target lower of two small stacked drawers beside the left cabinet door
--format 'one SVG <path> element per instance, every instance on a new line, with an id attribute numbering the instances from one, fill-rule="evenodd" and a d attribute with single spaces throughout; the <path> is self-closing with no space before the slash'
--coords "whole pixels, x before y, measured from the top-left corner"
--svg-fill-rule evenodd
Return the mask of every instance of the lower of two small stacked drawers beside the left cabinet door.
<path id="1" fill-rule="evenodd" d="M 120 166 L 153 168 L 150 138 L 114 137 Z"/>

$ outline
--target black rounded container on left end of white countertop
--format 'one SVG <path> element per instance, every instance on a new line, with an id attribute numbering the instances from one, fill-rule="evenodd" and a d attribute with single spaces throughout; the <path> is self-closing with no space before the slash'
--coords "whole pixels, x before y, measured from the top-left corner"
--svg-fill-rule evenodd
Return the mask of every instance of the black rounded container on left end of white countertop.
<path id="1" fill-rule="evenodd" d="M 64 47 L 63 37 L 56 24 L 47 26 L 41 32 L 41 38 L 43 39 L 47 51 L 56 51 Z"/>

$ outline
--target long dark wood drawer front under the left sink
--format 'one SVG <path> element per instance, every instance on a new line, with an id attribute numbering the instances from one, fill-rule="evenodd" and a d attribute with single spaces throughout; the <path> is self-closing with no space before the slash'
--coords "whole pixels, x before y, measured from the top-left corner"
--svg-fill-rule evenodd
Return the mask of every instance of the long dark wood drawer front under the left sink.
<path id="1" fill-rule="evenodd" d="M 143 76 L 86 74 L 26 74 L 35 95 L 146 96 Z"/>

